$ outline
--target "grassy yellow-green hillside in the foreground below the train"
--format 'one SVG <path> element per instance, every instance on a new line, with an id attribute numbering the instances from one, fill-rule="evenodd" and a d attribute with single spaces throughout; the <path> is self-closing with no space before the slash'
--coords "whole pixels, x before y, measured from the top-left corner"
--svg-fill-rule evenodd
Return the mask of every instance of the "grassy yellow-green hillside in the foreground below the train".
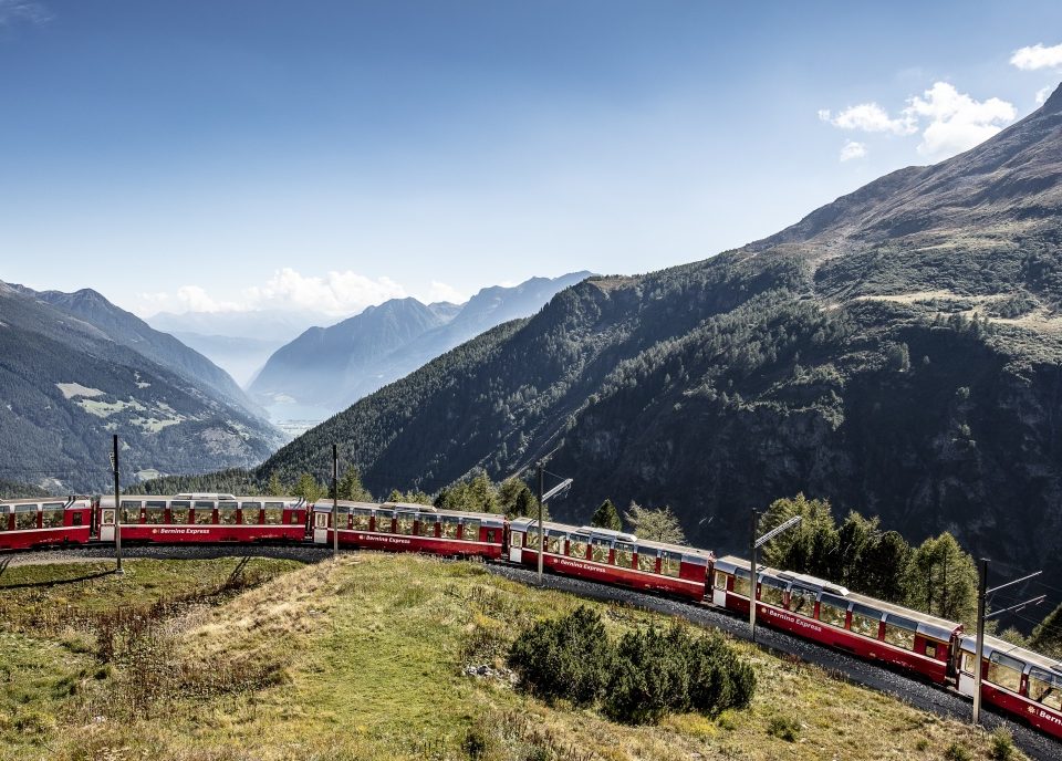
<path id="1" fill-rule="evenodd" d="M 525 697 L 500 668 L 520 627 L 574 597 L 417 556 L 257 560 L 233 580 L 236 564 L 8 571 L 3 758 L 943 759 L 951 743 L 989 758 L 983 732 L 745 644 L 748 711 L 617 726 Z M 614 634 L 659 618 L 598 609 Z"/>

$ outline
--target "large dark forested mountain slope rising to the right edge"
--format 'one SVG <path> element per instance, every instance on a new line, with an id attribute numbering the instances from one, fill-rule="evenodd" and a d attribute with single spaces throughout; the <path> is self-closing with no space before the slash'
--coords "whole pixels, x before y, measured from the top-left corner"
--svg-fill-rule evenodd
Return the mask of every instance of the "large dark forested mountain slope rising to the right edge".
<path id="1" fill-rule="evenodd" d="M 376 492 L 496 478 L 553 452 L 551 505 L 669 504 L 747 541 L 803 491 L 910 540 L 1062 569 L 1062 91 L 981 146 L 883 177 L 771 238 L 592 278 L 444 355 L 267 461 Z"/>

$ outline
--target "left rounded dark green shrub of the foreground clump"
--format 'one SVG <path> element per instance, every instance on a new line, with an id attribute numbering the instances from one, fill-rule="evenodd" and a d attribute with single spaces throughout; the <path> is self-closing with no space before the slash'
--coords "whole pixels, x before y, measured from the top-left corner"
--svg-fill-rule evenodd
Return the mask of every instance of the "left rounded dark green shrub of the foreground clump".
<path id="1" fill-rule="evenodd" d="M 601 695 L 612 655 L 601 616 L 581 605 L 563 618 L 539 622 L 520 634 L 509 650 L 509 665 L 524 689 L 580 706 Z"/>

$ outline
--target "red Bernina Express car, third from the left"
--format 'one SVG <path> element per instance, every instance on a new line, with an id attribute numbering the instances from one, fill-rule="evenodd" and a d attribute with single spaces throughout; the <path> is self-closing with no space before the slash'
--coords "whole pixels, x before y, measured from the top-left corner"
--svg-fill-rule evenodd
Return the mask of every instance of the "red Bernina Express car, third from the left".
<path id="1" fill-rule="evenodd" d="M 340 500 L 336 510 L 343 546 L 497 560 L 504 545 L 504 515 L 437 510 L 406 502 L 344 500 Z M 334 541 L 330 500 L 313 508 L 313 541 Z"/>

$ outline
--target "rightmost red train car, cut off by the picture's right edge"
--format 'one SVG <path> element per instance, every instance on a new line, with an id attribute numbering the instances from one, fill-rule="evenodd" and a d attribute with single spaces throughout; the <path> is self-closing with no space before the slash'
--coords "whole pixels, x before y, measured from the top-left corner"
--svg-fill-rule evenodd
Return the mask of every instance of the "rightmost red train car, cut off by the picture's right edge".
<path id="1" fill-rule="evenodd" d="M 959 654 L 958 689 L 972 698 L 977 640 L 962 637 Z M 1054 658 L 985 637 L 981 700 L 1062 739 L 1062 664 Z"/>

